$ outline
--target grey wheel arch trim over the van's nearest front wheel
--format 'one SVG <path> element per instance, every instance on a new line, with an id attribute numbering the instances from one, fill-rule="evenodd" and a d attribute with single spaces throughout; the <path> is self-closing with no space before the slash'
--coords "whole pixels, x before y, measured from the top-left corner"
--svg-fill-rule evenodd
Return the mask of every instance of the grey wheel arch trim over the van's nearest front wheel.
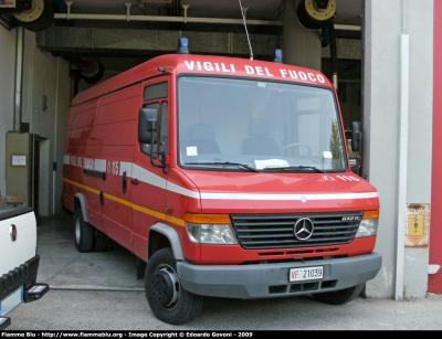
<path id="1" fill-rule="evenodd" d="M 152 225 L 149 230 L 147 243 L 147 259 L 149 259 L 158 250 L 168 246 L 171 247 L 173 256 L 177 261 L 185 259 L 178 232 L 173 227 L 164 223 L 157 223 Z"/>

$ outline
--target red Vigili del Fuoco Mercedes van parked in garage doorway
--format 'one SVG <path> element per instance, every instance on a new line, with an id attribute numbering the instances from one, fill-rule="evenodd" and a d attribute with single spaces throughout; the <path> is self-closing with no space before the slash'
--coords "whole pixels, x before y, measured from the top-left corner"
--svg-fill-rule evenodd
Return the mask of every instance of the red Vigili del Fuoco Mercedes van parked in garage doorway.
<path id="1" fill-rule="evenodd" d="M 350 170 L 334 86 L 281 62 L 183 45 L 77 94 L 64 204 L 77 250 L 133 252 L 175 325 L 203 296 L 345 304 L 381 267 L 378 192 Z"/>

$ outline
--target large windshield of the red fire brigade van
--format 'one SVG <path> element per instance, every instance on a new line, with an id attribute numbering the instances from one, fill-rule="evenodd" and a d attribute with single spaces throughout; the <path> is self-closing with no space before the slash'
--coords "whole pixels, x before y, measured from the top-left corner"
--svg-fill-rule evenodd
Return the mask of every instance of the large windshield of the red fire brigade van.
<path id="1" fill-rule="evenodd" d="M 334 93 L 225 77 L 178 81 L 179 163 L 241 171 L 343 171 Z"/>

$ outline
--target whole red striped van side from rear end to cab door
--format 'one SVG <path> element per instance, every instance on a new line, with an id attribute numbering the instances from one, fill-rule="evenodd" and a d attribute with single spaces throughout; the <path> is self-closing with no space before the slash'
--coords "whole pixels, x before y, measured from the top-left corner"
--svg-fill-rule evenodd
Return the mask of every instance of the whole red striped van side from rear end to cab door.
<path id="1" fill-rule="evenodd" d="M 84 195 L 88 223 L 131 250 L 131 163 L 140 85 L 71 108 L 65 147 L 65 205 Z M 125 181 L 125 182 L 124 182 Z"/>

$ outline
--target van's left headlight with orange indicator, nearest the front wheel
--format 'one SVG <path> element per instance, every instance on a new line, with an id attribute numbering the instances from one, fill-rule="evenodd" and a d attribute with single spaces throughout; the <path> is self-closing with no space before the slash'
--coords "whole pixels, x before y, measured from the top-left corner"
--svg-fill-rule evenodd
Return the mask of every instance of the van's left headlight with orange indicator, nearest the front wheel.
<path id="1" fill-rule="evenodd" d="M 186 230 L 197 244 L 238 244 L 229 215 L 186 213 Z"/>

